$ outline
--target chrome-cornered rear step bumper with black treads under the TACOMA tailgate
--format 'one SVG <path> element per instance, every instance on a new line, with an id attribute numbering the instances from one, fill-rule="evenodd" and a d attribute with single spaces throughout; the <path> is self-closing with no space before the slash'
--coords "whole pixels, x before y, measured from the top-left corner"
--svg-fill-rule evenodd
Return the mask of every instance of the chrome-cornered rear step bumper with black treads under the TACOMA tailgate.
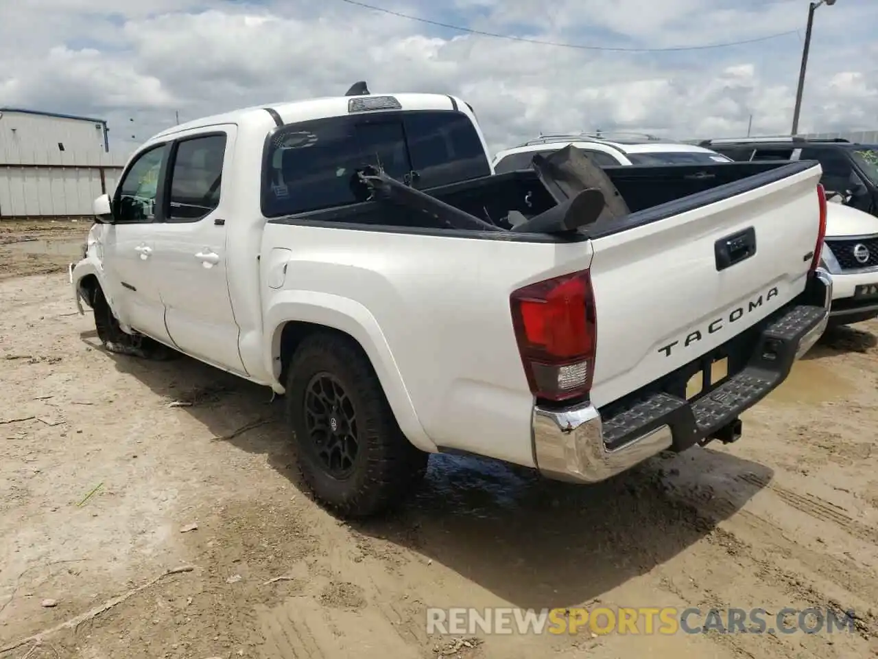
<path id="1" fill-rule="evenodd" d="M 600 482 L 662 451 L 683 451 L 714 437 L 733 441 L 738 415 L 786 380 L 795 360 L 824 333 L 832 300 L 826 272 L 817 271 L 805 297 L 810 304 L 789 308 L 766 324 L 748 366 L 694 402 L 653 394 L 610 419 L 589 403 L 565 409 L 536 405 L 536 467 L 553 480 Z"/>

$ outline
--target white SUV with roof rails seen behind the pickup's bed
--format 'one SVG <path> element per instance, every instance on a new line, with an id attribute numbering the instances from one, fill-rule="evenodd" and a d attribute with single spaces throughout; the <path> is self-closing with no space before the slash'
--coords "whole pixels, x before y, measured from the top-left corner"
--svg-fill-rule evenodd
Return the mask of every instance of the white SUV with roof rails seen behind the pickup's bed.
<path id="1" fill-rule="evenodd" d="M 498 174 L 504 171 L 526 170 L 536 154 L 548 155 L 568 145 L 582 149 L 602 167 L 734 162 L 731 158 L 721 156 L 709 148 L 663 140 L 649 134 L 598 133 L 540 135 L 521 146 L 498 152 L 493 159 L 493 168 Z"/>

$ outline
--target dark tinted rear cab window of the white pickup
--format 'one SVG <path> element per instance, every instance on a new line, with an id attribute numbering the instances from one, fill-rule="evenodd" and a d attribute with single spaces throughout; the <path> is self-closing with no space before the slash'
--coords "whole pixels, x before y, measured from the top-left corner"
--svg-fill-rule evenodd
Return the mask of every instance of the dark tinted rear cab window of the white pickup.
<path id="1" fill-rule="evenodd" d="M 368 199 L 357 172 L 380 166 L 416 188 L 491 175 L 479 134 L 462 112 L 374 112 L 277 129 L 263 160 L 263 215 L 279 217 Z"/>

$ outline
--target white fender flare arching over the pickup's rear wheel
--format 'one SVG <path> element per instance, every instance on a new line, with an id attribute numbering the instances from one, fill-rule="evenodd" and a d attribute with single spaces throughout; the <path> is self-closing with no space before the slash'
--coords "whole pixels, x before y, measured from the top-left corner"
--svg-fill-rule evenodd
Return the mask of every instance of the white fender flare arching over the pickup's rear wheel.
<path id="1" fill-rule="evenodd" d="M 428 438 L 418 419 L 384 332 L 369 309 L 331 293 L 279 291 L 272 295 L 265 312 L 267 336 L 264 344 L 269 348 L 264 359 L 267 373 L 271 373 L 272 387 L 279 393 L 284 391 L 284 383 L 280 381 L 281 336 L 287 322 L 311 322 L 337 329 L 356 340 L 378 374 L 399 428 L 421 451 L 437 452 L 436 445 Z"/>

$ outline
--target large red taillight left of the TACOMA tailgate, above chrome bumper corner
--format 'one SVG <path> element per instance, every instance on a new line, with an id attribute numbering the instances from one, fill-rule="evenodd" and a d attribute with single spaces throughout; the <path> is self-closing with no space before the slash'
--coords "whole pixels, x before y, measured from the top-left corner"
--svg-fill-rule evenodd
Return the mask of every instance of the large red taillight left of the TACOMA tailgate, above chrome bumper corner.
<path id="1" fill-rule="evenodd" d="M 509 302 L 530 391 L 550 401 L 588 395 L 597 340 L 588 271 L 524 286 Z"/>

